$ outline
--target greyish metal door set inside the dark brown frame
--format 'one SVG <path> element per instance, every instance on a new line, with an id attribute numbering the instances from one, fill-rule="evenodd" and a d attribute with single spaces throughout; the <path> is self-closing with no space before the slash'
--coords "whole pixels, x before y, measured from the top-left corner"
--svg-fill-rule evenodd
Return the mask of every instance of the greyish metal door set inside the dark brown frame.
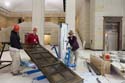
<path id="1" fill-rule="evenodd" d="M 105 24 L 105 44 L 107 50 L 114 51 L 118 50 L 119 44 L 119 23 L 109 22 Z"/>

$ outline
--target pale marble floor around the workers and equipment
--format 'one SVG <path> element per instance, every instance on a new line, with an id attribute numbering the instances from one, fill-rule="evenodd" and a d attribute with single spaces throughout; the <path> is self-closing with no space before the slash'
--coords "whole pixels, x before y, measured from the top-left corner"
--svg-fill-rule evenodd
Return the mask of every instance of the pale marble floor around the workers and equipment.
<path id="1" fill-rule="evenodd" d="M 54 53 L 50 49 L 50 47 L 46 47 L 51 53 Z M 21 50 L 21 59 L 22 60 L 30 60 L 28 55 L 25 53 L 24 50 Z M 74 72 L 76 72 L 81 78 L 84 79 L 84 83 L 125 83 L 125 79 L 123 79 L 121 76 L 117 74 L 107 74 L 105 76 L 97 76 L 92 75 L 86 66 L 85 59 L 89 59 L 91 54 L 101 55 L 101 51 L 91 51 L 91 50 L 82 50 L 79 49 L 79 57 L 77 61 L 77 67 L 76 70 L 73 69 Z M 9 51 L 6 51 L 3 53 L 2 60 L 11 60 L 11 57 L 9 55 Z M 31 70 L 31 68 L 23 67 L 23 71 Z M 36 76 L 42 75 L 41 72 L 24 76 L 13 76 L 10 73 L 10 66 L 0 69 L 0 83 L 49 83 L 47 79 L 40 80 L 40 81 L 34 81 L 33 78 Z M 98 82 L 96 79 L 99 79 L 101 82 Z"/>

